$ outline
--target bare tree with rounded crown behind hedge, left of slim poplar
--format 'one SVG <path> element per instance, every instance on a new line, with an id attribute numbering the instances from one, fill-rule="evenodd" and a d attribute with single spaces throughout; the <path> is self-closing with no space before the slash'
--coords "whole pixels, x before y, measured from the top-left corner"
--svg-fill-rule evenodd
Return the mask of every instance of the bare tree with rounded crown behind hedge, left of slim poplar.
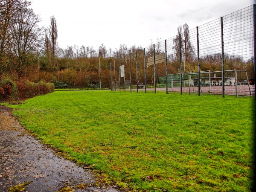
<path id="1" fill-rule="evenodd" d="M 16 57 L 14 68 L 20 79 L 26 66 L 35 62 L 41 53 L 44 29 L 38 26 L 41 20 L 32 9 L 19 9 L 14 19 L 11 47 Z"/>

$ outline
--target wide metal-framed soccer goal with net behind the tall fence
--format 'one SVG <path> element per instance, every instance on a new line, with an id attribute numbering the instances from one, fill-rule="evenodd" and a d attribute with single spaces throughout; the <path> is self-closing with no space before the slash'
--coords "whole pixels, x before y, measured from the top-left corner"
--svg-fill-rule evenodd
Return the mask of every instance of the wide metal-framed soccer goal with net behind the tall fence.
<path id="1" fill-rule="evenodd" d="M 253 86 L 247 76 L 246 70 L 225 70 L 223 71 L 201 71 L 200 82 L 198 82 L 198 72 L 182 73 L 182 84 L 180 83 L 180 74 L 169 74 L 159 77 L 160 84 L 166 84 L 168 91 L 179 92 L 180 86 L 183 87 L 184 93 L 198 94 L 198 88 L 201 87 L 202 94 L 223 94 L 223 86 L 225 87 L 225 95 L 233 95 L 236 97 L 252 96 L 255 94 Z M 167 82 L 166 82 L 167 79 Z M 223 81 L 224 79 L 224 81 Z"/>

